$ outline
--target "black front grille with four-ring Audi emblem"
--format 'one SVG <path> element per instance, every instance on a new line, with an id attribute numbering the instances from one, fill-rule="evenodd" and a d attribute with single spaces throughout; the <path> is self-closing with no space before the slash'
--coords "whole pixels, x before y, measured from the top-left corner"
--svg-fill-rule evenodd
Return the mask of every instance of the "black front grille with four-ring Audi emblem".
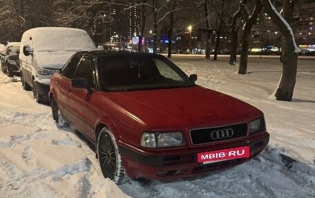
<path id="1" fill-rule="evenodd" d="M 215 128 L 191 129 L 190 136 L 193 144 L 211 143 L 234 139 L 247 135 L 247 123 L 238 123 L 230 126 L 220 126 Z"/>

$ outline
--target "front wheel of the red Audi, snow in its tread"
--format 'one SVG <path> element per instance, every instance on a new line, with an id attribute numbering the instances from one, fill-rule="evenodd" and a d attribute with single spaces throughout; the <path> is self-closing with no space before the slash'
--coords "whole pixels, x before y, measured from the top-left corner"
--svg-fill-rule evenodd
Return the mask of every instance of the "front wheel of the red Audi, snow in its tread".
<path id="1" fill-rule="evenodd" d="M 126 183 L 126 170 L 122 164 L 115 137 L 106 127 L 99 132 L 97 156 L 104 177 L 113 180 L 116 184 Z"/>

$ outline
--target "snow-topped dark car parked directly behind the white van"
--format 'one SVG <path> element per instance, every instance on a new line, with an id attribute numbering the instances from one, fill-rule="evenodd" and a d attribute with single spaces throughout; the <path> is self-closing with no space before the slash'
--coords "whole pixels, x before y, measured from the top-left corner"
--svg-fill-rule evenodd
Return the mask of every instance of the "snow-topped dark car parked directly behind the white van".
<path id="1" fill-rule="evenodd" d="M 20 75 L 19 50 L 20 42 L 10 42 L 3 50 L 3 56 L 1 57 L 1 70 L 9 77 L 12 77 L 13 75 Z"/>

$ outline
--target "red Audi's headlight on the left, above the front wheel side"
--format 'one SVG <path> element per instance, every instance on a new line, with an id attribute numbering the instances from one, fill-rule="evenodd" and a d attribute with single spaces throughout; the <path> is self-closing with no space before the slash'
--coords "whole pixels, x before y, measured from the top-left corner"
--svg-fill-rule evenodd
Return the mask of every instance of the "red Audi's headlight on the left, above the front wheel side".
<path id="1" fill-rule="evenodd" d="M 165 148 L 185 146 L 186 141 L 182 132 L 144 132 L 140 145 L 148 148 Z"/>

